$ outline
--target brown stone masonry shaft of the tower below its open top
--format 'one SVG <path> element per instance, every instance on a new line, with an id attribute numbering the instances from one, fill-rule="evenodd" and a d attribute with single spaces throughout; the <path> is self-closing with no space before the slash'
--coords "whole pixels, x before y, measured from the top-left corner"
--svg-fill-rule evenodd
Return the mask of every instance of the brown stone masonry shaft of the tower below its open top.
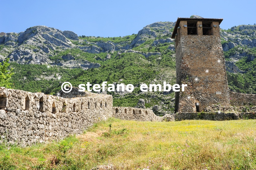
<path id="1" fill-rule="evenodd" d="M 178 40 L 178 39 L 177 39 Z M 193 93 L 188 89 L 192 102 L 199 103 L 199 111 L 212 104 L 229 105 L 229 89 L 225 70 L 225 59 L 219 35 L 181 35 L 176 48 L 177 83 L 189 82 Z M 177 42 L 176 42 L 177 43 Z M 185 94 L 186 95 L 186 89 Z M 176 95 L 176 103 L 181 104 L 181 92 Z M 183 98 L 185 99 L 185 98 Z M 177 112 L 195 110 L 194 105 Z"/>

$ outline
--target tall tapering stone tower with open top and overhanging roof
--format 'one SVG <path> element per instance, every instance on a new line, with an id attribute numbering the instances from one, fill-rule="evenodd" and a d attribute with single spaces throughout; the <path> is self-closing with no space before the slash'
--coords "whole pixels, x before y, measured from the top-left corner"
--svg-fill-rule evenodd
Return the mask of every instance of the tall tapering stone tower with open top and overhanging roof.
<path id="1" fill-rule="evenodd" d="M 225 58 L 219 35 L 223 19 L 178 18 L 172 34 L 176 47 L 176 112 L 201 112 L 213 104 L 229 105 Z"/>

